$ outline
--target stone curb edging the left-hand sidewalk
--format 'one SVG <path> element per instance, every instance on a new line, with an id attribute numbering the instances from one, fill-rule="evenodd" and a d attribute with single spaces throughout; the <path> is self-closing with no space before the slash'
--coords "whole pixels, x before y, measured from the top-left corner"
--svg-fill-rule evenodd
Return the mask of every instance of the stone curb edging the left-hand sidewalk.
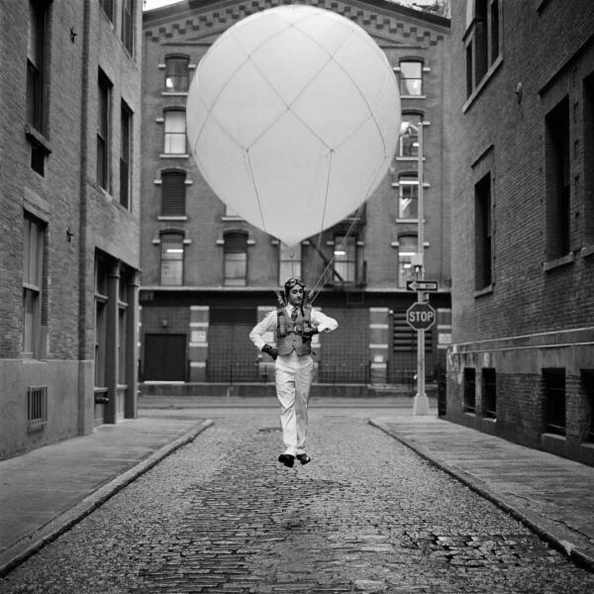
<path id="1" fill-rule="evenodd" d="M 67 532 L 72 526 L 76 525 L 84 517 L 112 498 L 118 491 L 121 491 L 125 486 L 135 481 L 140 475 L 150 470 L 161 460 L 169 456 L 169 454 L 193 441 L 204 429 L 207 429 L 213 424 L 214 421 L 211 419 L 202 421 L 185 432 L 184 435 L 163 445 L 159 450 L 154 451 L 137 465 L 116 476 L 107 484 L 100 486 L 83 500 L 72 505 L 68 510 L 59 513 L 46 523 L 46 525 L 35 530 L 29 536 L 21 538 L 19 541 L 8 546 L 0 553 L 0 578 L 6 576 L 18 567 L 18 565 L 31 557 L 31 555 L 40 551 L 45 545 L 55 541 L 58 536 Z"/>

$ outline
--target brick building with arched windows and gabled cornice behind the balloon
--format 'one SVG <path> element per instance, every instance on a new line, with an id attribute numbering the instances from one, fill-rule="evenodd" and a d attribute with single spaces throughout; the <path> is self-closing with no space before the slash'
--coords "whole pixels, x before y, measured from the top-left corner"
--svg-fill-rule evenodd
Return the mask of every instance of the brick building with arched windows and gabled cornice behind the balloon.
<path id="1" fill-rule="evenodd" d="M 282 2 L 177 2 L 144 13 L 141 213 L 141 379 L 208 393 L 271 379 L 249 329 L 276 304 L 289 276 L 341 326 L 315 345 L 316 384 L 402 383 L 416 371 L 416 333 L 405 312 L 418 231 L 418 128 L 425 122 L 425 277 L 438 326 L 427 371 L 445 364 L 450 324 L 449 20 L 391 2 L 315 2 L 361 25 L 399 78 L 403 135 L 390 173 L 365 207 L 288 254 L 235 216 L 200 175 L 185 139 L 189 81 L 214 40 L 239 19 Z M 337 246 L 348 234 L 345 249 Z M 333 260 L 326 274 L 321 272 Z M 154 387 L 154 384 L 157 387 Z M 359 388 L 353 388 L 357 390 Z M 171 385 L 167 388 L 172 391 Z M 237 388 L 240 389 L 240 388 Z M 253 392 L 254 388 L 250 388 Z M 314 386 L 315 389 L 315 386 Z M 360 391 L 360 390 L 359 390 Z"/>

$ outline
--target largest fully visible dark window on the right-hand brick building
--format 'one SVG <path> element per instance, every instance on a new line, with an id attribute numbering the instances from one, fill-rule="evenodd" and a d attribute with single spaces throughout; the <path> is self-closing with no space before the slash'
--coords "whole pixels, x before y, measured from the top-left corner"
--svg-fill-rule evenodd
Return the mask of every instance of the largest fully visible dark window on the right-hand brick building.
<path id="1" fill-rule="evenodd" d="M 563 99 L 545 118 L 547 259 L 570 252 L 569 100 Z"/>

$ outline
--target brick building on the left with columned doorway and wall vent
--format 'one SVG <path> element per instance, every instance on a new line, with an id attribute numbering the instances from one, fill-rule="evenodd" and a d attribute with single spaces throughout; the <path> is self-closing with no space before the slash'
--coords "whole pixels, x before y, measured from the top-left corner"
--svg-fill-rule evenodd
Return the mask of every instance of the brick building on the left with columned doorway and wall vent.
<path id="1" fill-rule="evenodd" d="M 136 414 L 141 3 L 0 5 L 0 459 Z"/>

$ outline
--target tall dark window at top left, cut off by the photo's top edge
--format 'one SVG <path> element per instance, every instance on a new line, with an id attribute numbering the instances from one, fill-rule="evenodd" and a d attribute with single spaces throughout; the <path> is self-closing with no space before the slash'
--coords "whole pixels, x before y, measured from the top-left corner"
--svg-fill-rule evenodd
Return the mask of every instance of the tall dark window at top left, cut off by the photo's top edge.
<path id="1" fill-rule="evenodd" d="M 39 132 L 45 132 L 46 88 L 46 19 L 47 4 L 29 2 L 27 31 L 27 122 Z"/>

